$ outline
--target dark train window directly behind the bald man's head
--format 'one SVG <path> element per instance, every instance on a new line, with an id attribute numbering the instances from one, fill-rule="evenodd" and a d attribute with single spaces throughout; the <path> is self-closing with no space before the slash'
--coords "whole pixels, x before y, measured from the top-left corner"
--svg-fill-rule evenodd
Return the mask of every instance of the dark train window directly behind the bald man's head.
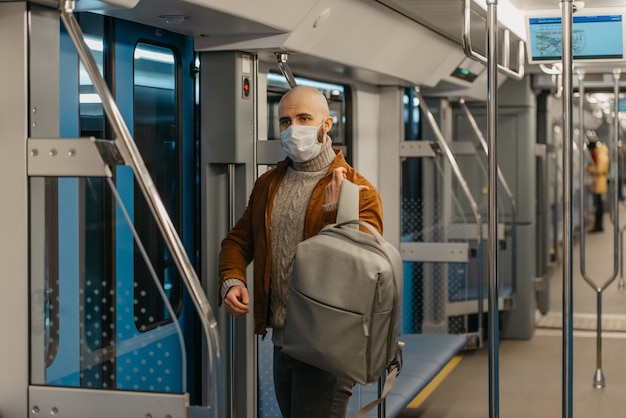
<path id="1" fill-rule="evenodd" d="M 296 77 L 299 86 L 311 86 L 320 90 L 328 100 L 330 115 L 334 119 L 333 128 L 328 135 L 332 138 L 333 147 L 343 151 L 346 160 L 352 163 L 351 142 L 351 101 L 350 87 L 340 84 L 326 83 Z M 289 90 L 289 84 L 281 74 L 268 73 L 267 75 L 267 108 L 268 108 L 268 134 L 269 140 L 280 140 L 278 125 L 278 102 L 282 95 Z"/>

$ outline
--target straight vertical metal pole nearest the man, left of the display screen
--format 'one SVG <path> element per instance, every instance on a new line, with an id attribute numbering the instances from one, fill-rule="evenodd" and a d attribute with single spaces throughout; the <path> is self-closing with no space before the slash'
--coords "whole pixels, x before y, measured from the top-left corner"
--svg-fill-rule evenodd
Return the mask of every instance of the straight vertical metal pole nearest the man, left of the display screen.
<path id="1" fill-rule="evenodd" d="M 500 416 L 498 326 L 498 1 L 487 0 L 487 137 L 489 140 L 488 254 L 489 416 Z"/>

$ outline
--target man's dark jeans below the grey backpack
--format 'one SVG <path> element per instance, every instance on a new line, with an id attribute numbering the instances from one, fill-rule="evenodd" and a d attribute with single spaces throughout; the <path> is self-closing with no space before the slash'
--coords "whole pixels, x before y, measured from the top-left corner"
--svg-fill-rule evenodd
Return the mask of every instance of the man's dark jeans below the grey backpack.
<path id="1" fill-rule="evenodd" d="M 274 390 L 283 418 L 345 418 L 354 384 L 274 346 Z"/>

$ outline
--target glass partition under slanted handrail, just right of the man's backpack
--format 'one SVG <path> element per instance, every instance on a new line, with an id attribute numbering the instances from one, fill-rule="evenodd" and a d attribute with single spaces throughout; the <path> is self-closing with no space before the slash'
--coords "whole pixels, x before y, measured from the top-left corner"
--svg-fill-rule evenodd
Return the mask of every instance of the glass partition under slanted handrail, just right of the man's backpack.
<path id="1" fill-rule="evenodd" d="M 403 104 L 402 331 L 480 335 L 486 243 L 477 203 L 423 97 L 407 89 Z"/>

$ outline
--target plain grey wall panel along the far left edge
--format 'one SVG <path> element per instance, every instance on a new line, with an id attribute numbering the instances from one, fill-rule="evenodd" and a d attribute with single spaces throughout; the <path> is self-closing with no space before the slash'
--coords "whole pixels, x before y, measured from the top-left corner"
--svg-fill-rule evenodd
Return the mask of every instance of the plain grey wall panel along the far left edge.
<path id="1" fill-rule="evenodd" d="M 26 417 L 28 225 L 26 2 L 0 3 L 0 416 Z"/>

